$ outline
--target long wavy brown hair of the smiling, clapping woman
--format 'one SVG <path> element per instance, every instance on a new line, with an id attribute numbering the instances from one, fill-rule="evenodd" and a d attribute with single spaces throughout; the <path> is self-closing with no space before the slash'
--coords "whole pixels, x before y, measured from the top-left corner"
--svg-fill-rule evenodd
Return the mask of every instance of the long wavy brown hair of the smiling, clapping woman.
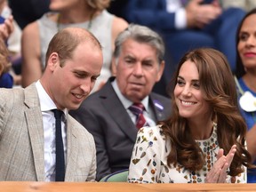
<path id="1" fill-rule="evenodd" d="M 194 62 L 198 69 L 204 100 L 212 108 L 212 121 L 217 121 L 220 148 L 223 148 L 227 155 L 230 148 L 236 144 L 236 155 L 230 165 L 229 173 L 231 176 L 236 176 L 244 172 L 242 164 L 245 166 L 250 164 L 251 156 L 244 147 L 246 124 L 238 109 L 236 84 L 228 60 L 221 52 L 211 48 L 188 52 L 180 60 L 174 84 L 177 84 L 180 68 L 186 60 Z M 164 134 L 172 143 L 167 163 L 170 165 L 179 162 L 191 171 L 200 170 L 204 165 L 203 152 L 193 139 L 186 118 L 180 116 L 173 92 L 174 85 L 172 85 L 172 115 L 160 123 Z"/>

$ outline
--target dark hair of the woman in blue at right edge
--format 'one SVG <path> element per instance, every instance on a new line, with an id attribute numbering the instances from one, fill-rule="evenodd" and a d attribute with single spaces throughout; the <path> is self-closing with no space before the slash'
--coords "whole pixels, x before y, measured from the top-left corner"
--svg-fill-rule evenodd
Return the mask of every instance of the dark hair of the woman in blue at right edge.
<path id="1" fill-rule="evenodd" d="M 235 75 L 237 78 L 240 78 L 242 76 L 244 76 L 244 74 L 246 73 L 245 70 L 244 70 L 244 65 L 243 65 L 243 62 L 241 60 L 241 57 L 240 57 L 240 54 L 237 50 L 237 44 L 239 44 L 239 34 L 240 34 L 240 30 L 244 24 L 244 20 L 249 17 L 250 15 L 252 14 L 256 14 L 256 8 L 252 9 L 252 11 L 250 12 L 247 12 L 243 18 L 243 20 L 241 20 L 237 30 L 236 30 L 236 72 L 235 72 Z"/>

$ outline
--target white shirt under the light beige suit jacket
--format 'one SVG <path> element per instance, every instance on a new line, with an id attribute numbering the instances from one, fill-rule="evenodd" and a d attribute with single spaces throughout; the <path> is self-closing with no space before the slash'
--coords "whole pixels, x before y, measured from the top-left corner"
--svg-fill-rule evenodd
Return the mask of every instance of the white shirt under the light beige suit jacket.
<path id="1" fill-rule="evenodd" d="M 57 108 L 50 96 L 45 92 L 44 87 L 38 80 L 36 90 L 40 101 L 40 108 L 43 116 L 44 125 L 44 180 L 55 180 L 55 117 L 52 109 Z M 61 133 L 64 147 L 65 159 L 67 154 L 67 135 L 66 135 L 66 116 L 68 110 L 65 109 L 61 119 Z M 67 162 L 65 160 L 65 162 Z"/>

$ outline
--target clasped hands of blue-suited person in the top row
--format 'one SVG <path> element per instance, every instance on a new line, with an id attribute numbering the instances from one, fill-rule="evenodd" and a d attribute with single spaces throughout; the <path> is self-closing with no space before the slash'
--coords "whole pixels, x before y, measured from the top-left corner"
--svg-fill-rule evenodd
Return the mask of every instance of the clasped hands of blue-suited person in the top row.
<path id="1" fill-rule="evenodd" d="M 200 4 L 203 1 L 191 0 L 186 6 L 188 28 L 204 28 L 222 12 L 217 0 L 212 4 Z"/>

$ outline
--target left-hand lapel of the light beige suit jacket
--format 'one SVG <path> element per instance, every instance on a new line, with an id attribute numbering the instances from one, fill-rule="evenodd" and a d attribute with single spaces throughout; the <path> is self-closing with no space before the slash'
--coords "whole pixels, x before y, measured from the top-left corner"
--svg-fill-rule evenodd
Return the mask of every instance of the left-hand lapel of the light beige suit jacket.
<path id="1" fill-rule="evenodd" d="M 28 124 L 29 138 L 34 157 L 38 181 L 44 181 L 44 126 L 36 85 L 29 85 L 25 91 L 25 118 Z"/>

